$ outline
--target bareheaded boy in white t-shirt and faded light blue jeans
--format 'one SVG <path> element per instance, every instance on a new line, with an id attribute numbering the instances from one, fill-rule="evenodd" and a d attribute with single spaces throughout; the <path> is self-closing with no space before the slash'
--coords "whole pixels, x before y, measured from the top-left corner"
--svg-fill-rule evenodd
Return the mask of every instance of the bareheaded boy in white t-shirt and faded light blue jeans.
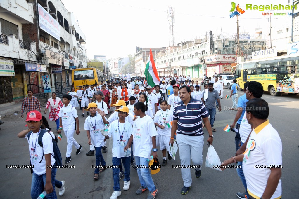
<path id="1" fill-rule="evenodd" d="M 157 131 L 155 128 L 154 121 L 148 115 L 145 115 L 145 105 L 142 102 L 137 102 L 134 105 L 134 113 L 139 116 L 135 122 L 132 129 L 132 135 L 128 141 L 128 144 L 124 150 L 130 148 L 132 141 L 134 142 L 133 150 L 135 155 L 136 166 L 146 166 L 148 167 L 149 161 L 147 159 L 151 155 L 153 158 L 157 158 L 156 149 L 156 136 Z M 142 172 L 141 172 L 142 169 Z M 137 168 L 137 173 L 141 186 L 136 191 L 137 195 L 142 194 L 145 190 L 149 189 L 148 199 L 155 198 L 158 188 L 156 188 L 152 176 L 150 174 L 149 168 Z"/>

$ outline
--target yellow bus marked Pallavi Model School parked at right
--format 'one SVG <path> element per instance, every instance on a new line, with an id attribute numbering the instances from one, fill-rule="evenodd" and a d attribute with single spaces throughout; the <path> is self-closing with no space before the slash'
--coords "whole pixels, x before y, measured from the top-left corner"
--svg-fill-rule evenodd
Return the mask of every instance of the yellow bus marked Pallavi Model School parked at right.
<path id="1" fill-rule="evenodd" d="M 281 93 L 297 95 L 299 93 L 299 56 L 282 55 L 272 58 L 256 59 L 237 64 L 235 79 L 239 79 L 239 90 L 246 81 L 258 81 L 264 91 L 272 96 Z"/>

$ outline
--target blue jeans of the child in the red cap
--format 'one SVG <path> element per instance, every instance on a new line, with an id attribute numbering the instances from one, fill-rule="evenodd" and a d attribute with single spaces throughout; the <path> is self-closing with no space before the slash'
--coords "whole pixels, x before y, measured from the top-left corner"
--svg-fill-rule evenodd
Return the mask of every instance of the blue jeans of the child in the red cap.
<path id="1" fill-rule="evenodd" d="M 50 194 L 47 194 L 46 198 L 49 199 L 56 199 L 56 192 L 55 192 L 55 175 L 57 169 L 51 169 L 51 183 L 53 186 L 54 191 Z M 39 195 L 45 191 L 45 185 L 46 185 L 46 174 L 43 175 L 37 175 L 33 172 L 32 174 L 32 182 L 31 182 L 31 198 L 36 199 L 39 197 Z"/>

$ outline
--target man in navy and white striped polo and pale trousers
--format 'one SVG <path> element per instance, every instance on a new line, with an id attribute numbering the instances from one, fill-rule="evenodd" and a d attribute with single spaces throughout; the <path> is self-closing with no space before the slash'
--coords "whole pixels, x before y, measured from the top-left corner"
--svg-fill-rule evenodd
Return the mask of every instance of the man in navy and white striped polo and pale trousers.
<path id="1" fill-rule="evenodd" d="M 202 119 L 207 127 L 209 138 L 207 142 L 212 144 L 213 133 L 208 120 L 208 112 L 202 101 L 191 97 L 191 90 L 188 86 L 179 89 L 181 102 L 177 103 L 173 111 L 173 124 L 171 127 L 170 144 L 173 145 L 174 134 L 179 146 L 181 165 L 190 165 L 191 159 L 194 165 L 200 168 L 195 169 L 195 176 L 199 178 L 202 166 L 202 148 L 204 136 L 202 132 Z M 181 194 L 187 194 L 191 187 L 192 179 L 190 169 L 181 169 L 184 186 Z"/>

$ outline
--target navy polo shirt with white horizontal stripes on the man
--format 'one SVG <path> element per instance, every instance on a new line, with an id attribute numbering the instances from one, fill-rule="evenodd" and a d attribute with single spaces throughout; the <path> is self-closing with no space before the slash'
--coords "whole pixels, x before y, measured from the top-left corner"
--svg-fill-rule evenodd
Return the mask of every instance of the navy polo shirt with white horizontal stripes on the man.
<path id="1" fill-rule="evenodd" d="M 177 133 L 190 136 L 203 135 L 202 117 L 208 117 L 208 111 L 202 101 L 190 98 L 187 106 L 184 102 L 176 104 L 173 120 L 178 120 Z"/>

